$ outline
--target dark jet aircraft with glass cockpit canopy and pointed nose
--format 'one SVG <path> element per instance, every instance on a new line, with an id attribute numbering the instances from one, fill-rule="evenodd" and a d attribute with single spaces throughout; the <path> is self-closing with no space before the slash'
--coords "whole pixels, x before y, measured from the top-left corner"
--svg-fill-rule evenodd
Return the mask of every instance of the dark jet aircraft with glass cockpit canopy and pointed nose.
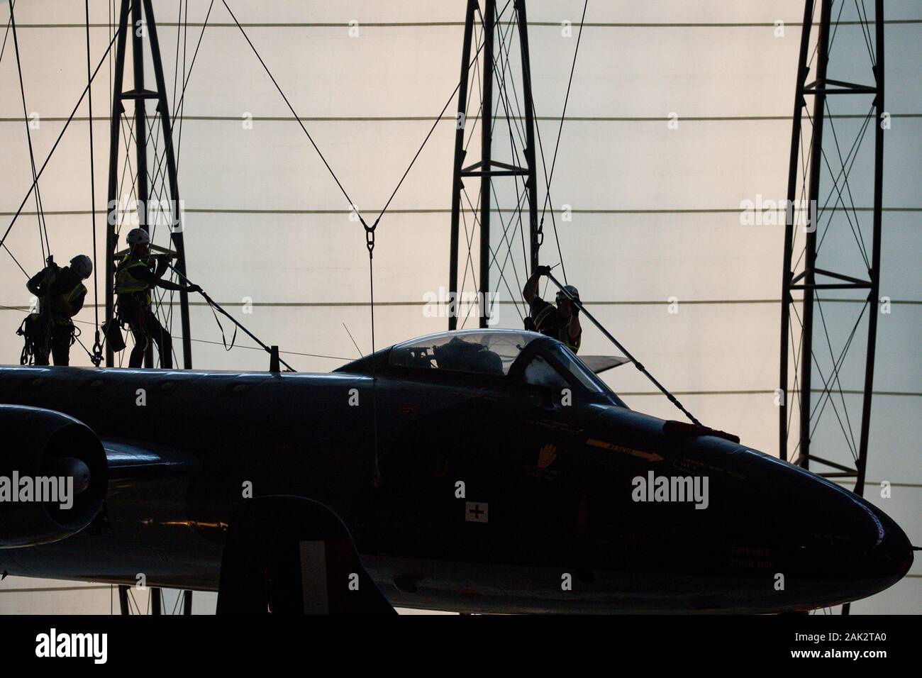
<path id="1" fill-rule="evenodd" d="M 5 367 L 0 403 L 0 476 L 78 493 L 0 503 L 11 575 L 216 590 L 235 509 L 275 495 L 335 513 L 384 596 L 419 609 L 784 613 L 913 561 L 856 494 L 630 410 L 526 331 L 435 334 L 324 375 Z"/>

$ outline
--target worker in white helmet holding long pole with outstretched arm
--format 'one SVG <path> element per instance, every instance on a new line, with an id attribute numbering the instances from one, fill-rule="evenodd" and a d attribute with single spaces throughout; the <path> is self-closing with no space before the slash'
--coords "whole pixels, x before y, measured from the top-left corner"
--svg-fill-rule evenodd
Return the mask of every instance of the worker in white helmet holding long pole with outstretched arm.
<path id="1" fill-rule="evenodd" d="M 115 293 L 118 295 L 119 319 L 128 324 L 135 337 L 128 366 L 141 366 L 148 341 L 153 339 L 160 353 L 160 367 L 171 369 L 172 337 L 150 309 L 150 291 L 155 287 L 187 292 L 202 291 L 202 288 L 160 280 L 170 260 L 166 256 L 150 256 L 150 236 L 144 229 L 128 232 L 127 242 L 131 249 L 115 268 Z M 156 270 L 151 269 L 154 265 Z"/>

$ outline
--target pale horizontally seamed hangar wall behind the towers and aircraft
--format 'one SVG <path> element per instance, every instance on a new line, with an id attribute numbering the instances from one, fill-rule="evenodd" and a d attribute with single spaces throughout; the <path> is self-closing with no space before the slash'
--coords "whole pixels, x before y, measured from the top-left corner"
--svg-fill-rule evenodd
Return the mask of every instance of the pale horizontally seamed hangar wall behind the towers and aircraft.
<path id="1" fill-rule="evenodd" d="M 350 196 L 366 218 L 373 219 L 455 87 L 465 3 L 229 2 Z M 95 62 L 111 29 L 107 3 L 90 4 Z M 894 486 L 892 499 L 880 501 L 919 543 L 922 479 L 914 441 L 922 431 L 919 396 L 912 394 L 922 391 L 916 348 L 922 328 L 922 86 L 917 75 L 922 14 L 913 0 L 886 5 L 891 22 L 886 28 L 886 108 L 892 127 L 885 136 L 881 295 L 893 303 L 891 314 L 880 316 L 868 477 L 909 485 Z M 155 0 L 155 6 L 175 104 L 177 3 Z M 189 20 L 197 25 L 190 26 L 186 36 L 187 64 L 207 6 L 204 0 L 190 2 Z M 703 422 L 740 434 L 745 444 L 773 454 L 783 228 L 743 226 L 739 207 L 741 201 L 759 196 L 785 197 L 802 8 L 800 0 L 589 3 L 550 201 L 550 208 L 557 210 L 569 280 L 579 286 L 585 300 L 595 303 L 591 308 L 599 319 L 657 378 L 682 394 L 683 404 Z M 582 10 L 579 0 L 528 4 L 535 105 L 549 162 L 578 30 L 574 25 L 573 36 L 563 37 L 561 21 L 578 24 Z M 3 29 L 6 7 L 0 12 Z M 854 13 L 851 5 L 844 16 L 849 12 Z M 41 116 L 41 126 L 31 131 L 41 164 L 86 85 L 83 6 L 65 0 L 20 2 L 17 18 L 27 112 Z M 352 19 L 360 23 L 354 38 L 349 37 Z M 775 37 L 776 20 L 785 23 L 783 37 Z M 299 370 L 332 369 L 356 355 L 343 323 L 362 351 L 371 348 L 368 258 L 361 225 L 349 220 L 346 199 L 300 126 L 290 119 L 290 111 L 220 2 L 208 23 L 186 90 L 182 121 L 180 191 L 190 277 L 219 302 L 228 303 L 229 311 L 258 336 L 278 343 L 282 351 L 293 351 L 283 357 Z M 8 43 L 0 61 L 3 231 L 31 184 L 11 48 Z M 860 30 L 840 28 L 831 75 L 868 82 L 867 59 Z M 517 67 L 517 54 L 512 54 L 510 64 Z M 180 61 L 180 73 L 182 68 Z M 100 244 L 109 77 L 109 67 L 103 65 L 93 87 Z M 126 86 L 130 82 L 129 68 Z M 474 97 L 476 101 L 476 93 Z M 833 115 L 867 113 L 869 101 L 847 99 L 833 102 Z M 450 105 L 446 119 L 436 126 L 395 197 L 393 211 L 381 221 L 374 258 L 378 348 L 447 324 L 444 318 L 423 315 L 422 298 L 447 284 L 453 109 Z M 668 128 L 672 112 L 679 116 L 678 129 Z M 244 113 L 253 115 L 252 129 L 242 125 Z M 84 104 L 41 178 L 49 237 L 58 260 L 90 248 L 87 114 Z M 833 117 L 843 152 L 860 123 L 859 118 Z M 178 125 L 177 121 L 177 134 Z M 502 139 L 496 147 L 506 152 L 505 133 L 496 134 Z M 834 146 L 826 151 L 833 153 Z M 479 127 L 468 158 L 478 155 Z M 869 136 L 851 174 L 851 199 L 858 208 L 870 206 L 871 158 Z M 513 186 L 511 180 L 497 183 L 501 208 L 512 207 Z M 477 183 L 469 181 L 467 189 L 476 199 Z M 542 188 L 539 198 L 543 196 Z M 562 220 L 564 205 L 570 206 L 572 220 Z M 34 211 L 30 199 L 6 240 L 30 272 L 41 267 Z M 501 216 L 506 220 L 510 215 L 494 215 L 494 247 L 500 243 Z M 835 214 L 841 228 L 830 233 L 822 255 L 829 257 L 825 261 L 830 267 L 860 273 L 863 261 L 844 216 Z M 866 243 L 869 217 L 869 211 L 858 211 Z M 545 232 L 542 258 L 556 263 L 550 216 Z M 158 242 L 165 236 L 160 229 Z M 505 270 L 513 295 L 522 280 L 517 232 L 515 242 L 518 282 L 511 266 Z M 476 253 L 476 235 L 473 246 Z M 471 290 L 470 273 L 467 280 Z M 509 303 L 511 294 L 496 270 L 493 280 L 502 301 L 501 325 L 517 327 L 520 320 Z M 18 359 L 20 346 L 13 329 L 22 307 L 29 304 L 24 282 L 25 275 L 10 256 L 0 253 L 0 305 L 18 307 L 0 309 L 0 363 Z M 841 345 L 847 323 L 860 309 L 859 303 L 832 301 L 842 296 L 846 295 L 823 296 L 823 311 L 835 327 L 833 349 Z M 242 314 L 244 297 L 253 300 L 252 314 Z M 678 314 L 668 313 L 669 297 L 678 299 Z M 92 309 L 84 309 L 78 319 L 83 339 L 91 337 Z M 230 338 L 230 324 L 224 325 Z M 192 326 L 196 366 L 266 368 L 263 351 L 223 350 L 207 307 L 193 307 Z M 585 326 L 584 353 L 612 352 L 594 328 Z M 846 389 L 861 387 L 865 333 L 863 322 L 843 372 Z M 180 334 L 178 323 L 174 334 Z M 245 337 L 239 343 L 253 345 Z M 824 339 L 815 342 L 814 349 L 825 369 Z M 73 363 L 89 364 L 78 347 L 72 357 Z M 620 367 L 605 378 L 625 394 L 632 408 L 667 418 L 680 416 L 632 367 Z M 885 395 L 894 393 L 910 395 Z M 853 422 L 860 412 L 859 400 L 845 396 Z M 830 414 L 823 415 L 816 445 L 824 449 L 821 456 L 844 460 L 849 452 Z M 872 499 L 875 490 L 869 485 Z M 855 611 L 917 612 L 920 572 L 919 565 L 914 566 L 916 577 L 857 603 Z M 66 592 L 53 603 L 47 602 L 53 601 L 52 593 L 36 593 L 33 609 L 61 612 L 86 605 L 87 611 L 95 611 L 102 603 L 94 595 Z M 0 595 L 5 611 L 10 609 L 8 600 L 10 596 Z M 20 610 L 22 604 L 12 609 Z M 108 609 L 108 598 L 105 606 Z"/>

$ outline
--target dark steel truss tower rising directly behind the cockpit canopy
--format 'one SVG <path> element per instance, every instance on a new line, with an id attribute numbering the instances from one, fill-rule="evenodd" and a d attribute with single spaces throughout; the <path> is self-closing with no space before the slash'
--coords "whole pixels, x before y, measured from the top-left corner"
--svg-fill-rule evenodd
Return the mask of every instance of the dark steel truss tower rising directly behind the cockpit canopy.
<path id="1" fill-rule="evenodd" d="M 531 91 L 531 66 L 528 56 L 528 24 L 526 19 L 525 0 L 514 0 L 515 28 L 518 30 L 520 58 L 522 65 L 522 93 L 523 108 L 525 118 L 525 148 L 522 152 L 524 162 L 519 165 L 509 164 L 493 160 L 493 95 L 494 83 L 499 79 L 501 91 L 500 101 L 509 101 L 507 88 L 507 77 L 501 74 L 498 78 L 496 48 L 497 33 L 497 13 L 496 0 L 484 0 L 483 12 L 480 12 L 479 0 L 467 0 L 467 15 L 465 18 L 464 46 L 461 51 L 461 78 L 458 88 L 458 107 L 457 121 L 455 132 L 455 163 L 452 182 L 452 220 L 451 220 L 451 260 L 449 262 L 449 299 L 455 300 L 449 303 L 448 328 L 457 327 L 457 302 L 455 295 L 458 291 L 458 239 L 459 226 L 461 220 L 462 194 L 464 193 L 464 180 L 466 177 L 479 177 L 480 179 L 480 197 L 479 197 L 479 298 L 483 302 L 480 305 L 480 327 L 487 327 L 489 316 L 490 299 L 490 268 L 491 268 L 491 248 L 490 248 L 490 228 L 491 228 L 491 207 L 493 203 L 493 186 L 492 178 L 501 176 L 512 176 L 518 181 L 517 177 L 522 177 L 525 184 L 526 200 L 528 203 L 528 233 L 530 243 L 529 266 L 534 270 L 538 266 L 538 249 L 540 247 L 540 232 L 538 228 L 538 183 L 536 179 L 536 162 L 535 162 L 535 113 L 534 101 Z M 478 15 L 480 20 L 478 19 Z M 465 129 L 467 126 L 467 88 L 472 65 L 471 42 L 474 35 L 474 27 L 482 22 L 483 44 L 480 47 L 483 51 L 482 56 L 482 107 L 480 113 L 480 160 L 465 166 L 467 150 L 465 149 Z M 479 53 L 478 53 L 479 54 Z M 502 45 L 499 54 L 502 61 Z M 477 54 L 474 54 L 473 61 L 477 61 Z M 507 54 L 508 60 L 508 54 Z M 510 76 L 511 78 L 511 76 Z M 512 113 L 506 110 L 507 118 Z M 510 135 L 512 136 L 512 135 Z M 521 166 L 524 165 L 524 166 Z M 517 189 L 517 186 L 516 186 Z M 521 204 L 517 206 L 521 208 Z"/>

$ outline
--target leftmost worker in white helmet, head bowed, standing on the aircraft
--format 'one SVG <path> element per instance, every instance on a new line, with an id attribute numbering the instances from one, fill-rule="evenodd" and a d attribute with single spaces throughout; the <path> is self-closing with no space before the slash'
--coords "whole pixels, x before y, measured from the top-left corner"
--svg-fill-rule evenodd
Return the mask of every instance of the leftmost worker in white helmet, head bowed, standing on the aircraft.
<path id="1" fill-rule="evenodd" d="M 87 296 L 83 281 L 93 272 L 89 256 L 77 255 L 70 260 L 70 266 L 59 267 L 48 257 L 48 265 L 32 276 L 26 287 L 39 299 L 39 312 L 26 318 L 20 334 L 26 337 L 23 361 L 29 354 L 35 356 L 35 364 L 47 365 L 51 353 L 55 365 L 70 363 L 70 347 L 76 339 L 76 328 L 71 319 L 80 309 Z"/>

